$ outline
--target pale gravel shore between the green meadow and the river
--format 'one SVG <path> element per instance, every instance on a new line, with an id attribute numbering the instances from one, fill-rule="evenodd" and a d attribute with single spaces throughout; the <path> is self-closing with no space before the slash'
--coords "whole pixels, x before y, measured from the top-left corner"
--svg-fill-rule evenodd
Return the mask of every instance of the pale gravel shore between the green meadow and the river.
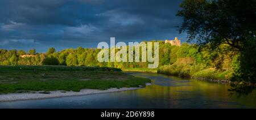
<path id="1" fill-rule="evenodd" d="M 147 83 L 146 86 L 151 85 Z M 145 87 L 146 87 L 145 86 Z M 98 90 L 98 89 L 82 89 L 80 92 L 63 92 L 61 90 L 50 91 L 49 94 L 36 93 L 9 93 L 9 94 L 0 94 L 0 102 L 10 102 L 10 101 L 20 101 L 20 100 L 40 100 L 45 98 L 59 98 L 59 97 L 69 97 L 69 96 L 86 96 L 90 94 L 101 94 L 101 93 L 113 93 L 113 92 L 122 92 L 127 90 L 136 90 L 143 89 L 141 88 L 110 88 L 107 90 Z"/>

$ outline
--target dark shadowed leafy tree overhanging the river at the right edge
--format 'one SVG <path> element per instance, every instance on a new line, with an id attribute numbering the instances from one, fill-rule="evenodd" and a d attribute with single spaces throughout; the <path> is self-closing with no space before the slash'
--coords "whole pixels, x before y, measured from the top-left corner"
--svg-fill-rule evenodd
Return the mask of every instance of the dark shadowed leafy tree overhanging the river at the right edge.
<path id="1" fill-rule="evenodd" d="M 177 16 L 183 18 L 180 32 L 187 32 L 189 42 L 196 40 L 199 45 L 210 43 L 218 48 L 222 43 L 229 44 L 241 55 L 239 69 L 234 71 L 233 81 L 256 83 L 256 1 L 255 0 L 184 0 Z M 223 65 L 224 57 L 213 55 L 217 68 Z M 212 57 L 212 56 L 210 56 Z M 233 85 L 235 86 L 235 85 Z M 255 87 L 254 87 L 255 88 Z M 246 94 L 252 88 L 239 89 Z"/>

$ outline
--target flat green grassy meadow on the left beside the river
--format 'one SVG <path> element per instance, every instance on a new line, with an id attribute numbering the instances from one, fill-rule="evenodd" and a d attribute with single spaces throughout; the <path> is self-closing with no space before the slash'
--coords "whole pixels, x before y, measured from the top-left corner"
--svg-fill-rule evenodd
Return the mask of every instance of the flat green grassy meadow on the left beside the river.
<path id="1" fill-rule="evenodd" d="M 0 66 L 0 93 L 144 86 L 147 78 L 134 77 L 121 69 L 66 66 Z"/>

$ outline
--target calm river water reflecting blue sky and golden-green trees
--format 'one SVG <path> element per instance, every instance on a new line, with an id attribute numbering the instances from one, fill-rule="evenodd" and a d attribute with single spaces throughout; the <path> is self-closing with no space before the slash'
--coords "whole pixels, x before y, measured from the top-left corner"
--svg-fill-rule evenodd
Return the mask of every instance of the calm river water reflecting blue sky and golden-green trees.
<path id="1" fill-rule="evenodd" d="M 0 102 L 0 108 L 256 108 L 256 92 L 230 97 L 227 84 L 185 80 L 156 73 L 131 73 L 147 77 L 152 85 L 125 92 Z"/>

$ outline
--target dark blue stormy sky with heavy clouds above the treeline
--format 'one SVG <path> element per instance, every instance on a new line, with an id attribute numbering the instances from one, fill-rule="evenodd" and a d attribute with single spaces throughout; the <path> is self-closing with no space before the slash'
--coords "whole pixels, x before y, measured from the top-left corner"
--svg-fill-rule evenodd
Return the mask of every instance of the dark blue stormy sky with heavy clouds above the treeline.
<path id="1" fill-rule="evenodd" d="M 0 48 L 97 47 L 99 42 L 186 41 L 177 27 L 181 0 L 1 0 Z"/>

